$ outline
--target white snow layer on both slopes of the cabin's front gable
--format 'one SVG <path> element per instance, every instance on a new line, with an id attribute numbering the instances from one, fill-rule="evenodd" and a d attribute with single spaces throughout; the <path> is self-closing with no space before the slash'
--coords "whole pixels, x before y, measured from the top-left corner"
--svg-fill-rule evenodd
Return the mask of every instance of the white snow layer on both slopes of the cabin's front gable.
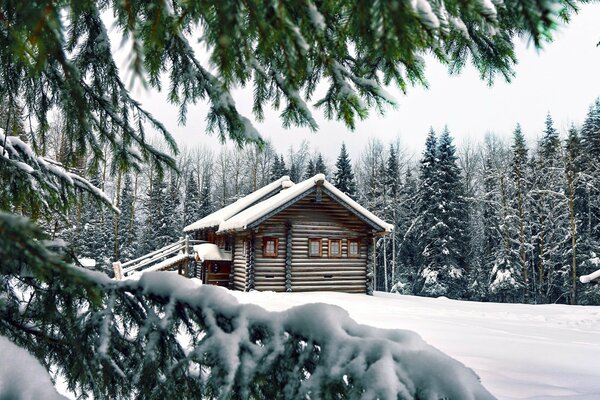
<path id="1" fill-rule="evenodd" d="M 358 214 L 373 222 L 375 225 L 381 227 L 383 231 L 391 232 L 394 228 L 393 225 L 388 224 L 387 222 L 384 222 L 383 220 L 379 219 L 366 208 L 358 204 L 356 201 L 352 200 L 348 195 L 340 191 L 331 183 L 327 182 L 327 180 L 325 180 L 325 175 L 317 174 L 312 178 L 297 183 L 288 189 L 282 190 L 275 196 L 261 201 L 260 203 L 255 204 L 252 207 L 249 207 L 244 211 L 240 212 L 239 214 L 234 215 L 231 218 L 221 222 L 221 224 L 219 225 L 219 232 L 246 229 L 248 228 L 248 225 L 257 221 L 261 217 L 267 215 L 271 211 L 283 206 L 284 204 L 288 203 L 294 198 L 312 189 L 317 185 L 317 183 L 321 183 L 327 191 L 331 192 L 335 197 L 340 199 Z"/>

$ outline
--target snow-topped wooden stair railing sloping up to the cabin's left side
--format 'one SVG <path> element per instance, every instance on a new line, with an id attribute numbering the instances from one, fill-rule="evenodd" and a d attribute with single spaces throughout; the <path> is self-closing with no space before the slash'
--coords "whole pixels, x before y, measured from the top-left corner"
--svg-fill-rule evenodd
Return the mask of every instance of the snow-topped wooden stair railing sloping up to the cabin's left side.
<path id="1" fill-rule="evenodd" d="M 128 276 L 132 272 L 141 272 L 149 268 L 155 267 L 161 262 L 165 262 L 168 259 L 177 257 L 180 255 L 179 262 L 184 261 L 186 258 L 193 256 L 192 246 L 194 244 L 206 243 L 204 240 L 192 240 L 187 235 L 182 237 L 175 243 L 168 244 L 158 250 L 151 253 L 145 254 L 134 260 L 121 263 L 116 261 L 113 263 L 113 270 L 115 273 L 115 279 L 121 280 L 125 276 Z"/>

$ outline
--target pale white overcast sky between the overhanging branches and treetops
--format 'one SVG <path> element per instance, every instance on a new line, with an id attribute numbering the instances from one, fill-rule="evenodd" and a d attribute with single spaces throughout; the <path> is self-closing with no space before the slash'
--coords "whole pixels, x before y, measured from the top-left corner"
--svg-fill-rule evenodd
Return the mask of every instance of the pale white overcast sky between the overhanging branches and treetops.
<path id="1" fill-rule="evenodd" d="M 480 140 L 486 132 L 510 135 L 519 122 L 530 141 L 543 130 L 550 112 L 561 132 L 571 123 L 580 124 L 595 98 L 600 96 L 600 4 L 582 6 L 569 25 L 555 34 L 553 43 L 536 51 L 532 45 L 517 45 L 516 76 L 511 83 L 502 78 L 492 87 L 479 79 L 477 71 L 468 67 L 458 76 L 432 59 L 427 60 L 429 88 L 410 88 L 406 95 L 389 88 L 399 107 L 388 109 L 384 116 L 376 111 L 360 123 L 354 132 L 341 122 L 326 121 L 314 111 L 319 131 L 281 127 L 278 113 L 266 113 L 265 121 L 256 124 L 265 138 L 270 138 L 279 152 L 291 145 L 298 147 L 307 139 L 330 161 L 339 152 L 342 141 L 355 157 L 370 137 L 384 142 L 399 138 L 409 151 L 420 152 L 432 126 L 439 132 L 448 125 L 460 145 L 464 140 Z M 180 145 L 205 143 L 219 146 L 207 136 L 204 118 L 208 107 L 196 105 L 189 110 L 186 126 L 177 124 L 177 108 L 169 105 L 164 94 L 134 90 L 134 96 L 159 118 Z M 251 90 L 233 92 L 238 109 L 251 116 Z"/>

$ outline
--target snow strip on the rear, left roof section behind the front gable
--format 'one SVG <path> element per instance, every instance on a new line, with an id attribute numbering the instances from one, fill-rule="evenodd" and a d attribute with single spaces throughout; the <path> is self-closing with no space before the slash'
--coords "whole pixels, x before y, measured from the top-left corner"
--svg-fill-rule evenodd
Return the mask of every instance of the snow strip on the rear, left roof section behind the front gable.
<path id="1" fill-rule="evenodd" d="M 249 195 L 242 197 L 238 201 L 231 203 L 227 207 L 221 208 L 214 213 L 207 215 L 199 221 L 196 221 L 185 228 L 183 228 L 184 232 L 193 232 L 200 229 L 212 228 L 215 226 L 219 226 L 223 221 L 228 220 L 234 215 L 244 211 L 246 208 L 260 201 L 262 198 L 272 194 L 273 192 L 281 189 L 293 186 L 294 183 L 290 180 L 289 176 L 282 176 L 277 179 L 275 182 L 271 182 L 268 185 L 258 189 L 255 192 L 250 193 Z"/>

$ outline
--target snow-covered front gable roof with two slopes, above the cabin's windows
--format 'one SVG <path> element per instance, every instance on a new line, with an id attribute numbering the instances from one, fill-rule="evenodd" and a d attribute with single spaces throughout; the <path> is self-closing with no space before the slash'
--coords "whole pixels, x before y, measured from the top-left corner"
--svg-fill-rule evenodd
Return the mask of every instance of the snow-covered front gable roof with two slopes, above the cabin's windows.
<path id="1" fill-rule="evenodd" d="M 332 199 L 347 208 L 365 223 L 371 225 L 374 229 L 381 232 L 390 232 L 393 229 L 393 225 L 379 219 L 356 201 L 352 200 L 348 195 L 327 182 L 323 174 L 317 174 L 223 221 L 219 225 L 219 232 L 245 230 L 256 227 L 266 219 L 314 192 L 319 185 Z"/>

